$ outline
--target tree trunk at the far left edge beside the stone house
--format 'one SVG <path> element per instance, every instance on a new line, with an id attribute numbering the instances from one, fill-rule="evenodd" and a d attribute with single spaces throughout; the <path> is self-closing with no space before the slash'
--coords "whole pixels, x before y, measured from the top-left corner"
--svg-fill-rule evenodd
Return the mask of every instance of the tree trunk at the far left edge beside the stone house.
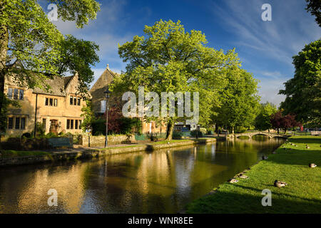
<path id="1" fill-rule="evenodd" d="M 1 13 L 1 12 L 0 12 Z M 6 113 L 2 113 L 4 104 L 4 78 L 6 76 L 6 55 L 8 52 L 9 33 L 6 26 L 0 26 L 0 120 L 2 121 Z M 5 128 L 5 127 L 4 127 Z M 6 129 L 0 129 L 1 135 Z M 1 142 L 0 135 L 0 142 Z"/>

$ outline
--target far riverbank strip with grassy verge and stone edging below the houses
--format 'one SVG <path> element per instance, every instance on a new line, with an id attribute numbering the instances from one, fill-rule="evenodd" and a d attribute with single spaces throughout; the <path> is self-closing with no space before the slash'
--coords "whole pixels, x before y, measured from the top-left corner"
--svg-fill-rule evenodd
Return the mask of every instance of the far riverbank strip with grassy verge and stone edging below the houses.
<path id="1" fill-rule="evenodd" d="M 215 141 L 215 138 L 199 138 L 198 140 L 171 140 L 169 142 L 159 141 L 145 145 L 116 145 L 107 148 L 88 147 L 49 151 L 2 150 L 0 156 L 0 167 L 9 165 L 34 164 L 39 162 L 55 162 L 59 160 L 90 159 L 92 157 L 103 157 L 105 155 L 138 151 L 153 151 L 170 147 L 205 144 Z"/>

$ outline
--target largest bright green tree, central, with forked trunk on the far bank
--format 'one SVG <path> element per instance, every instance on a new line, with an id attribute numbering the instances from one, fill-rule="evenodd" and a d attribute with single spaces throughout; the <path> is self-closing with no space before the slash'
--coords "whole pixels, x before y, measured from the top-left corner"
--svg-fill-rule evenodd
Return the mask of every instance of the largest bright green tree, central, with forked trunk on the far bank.
<path id="1" fill-rule="evenodd" d="M 199 92 L 200 122 L 208 122 L 211 108 L 218 104 L 218 90 L 226 83 L 223 71 L 239 65 L 237 54 L 206 46 L 201 31 L 185 31 L 180 21 L 157 21 L 143 32 L 145 36 L 134 36 L 133 41 L 119 46 L 126 73 L 116 78 L 111 90 L 137 94 L 138 86 L 144 86 L 145 93 L 160 96 L 162 92 Z M 170 140 L 177 115 L 161 119 L 168 123 Z"/>

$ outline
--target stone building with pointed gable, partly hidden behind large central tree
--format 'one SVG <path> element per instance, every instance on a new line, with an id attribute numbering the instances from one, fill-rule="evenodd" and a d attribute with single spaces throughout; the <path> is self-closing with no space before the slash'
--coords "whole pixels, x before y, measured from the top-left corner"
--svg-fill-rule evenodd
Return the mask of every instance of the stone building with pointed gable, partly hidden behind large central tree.
<path id="1" fill-rule="evenodd" d="M 93 112 L 96 116 L 103 115 L 106 110 L 106 98 L 104 96 L 104 91 L 106 91 L 107 86 L 113 82 L 113 78 L 117 76 L 117 73 L 111 71 L 107 64 L 107 68 L 101 76 L 98 78 L 96 83 L 90 90 L 93 104 Z M 123 101 L 121 100 L 121 95 L 115 95 L 111 93 L 111 98 L 109 99 L 109 107 L 114 105 L 121 106 L 119 108 L 123 108 Z M 143 120 L 143 119 L 142 119 Z M 165 125 L 156 125 L 155 122 L 146 122 L 143 120 L 142 124 L 142 132 L 143 133 L 165 133 L 166 126 Z"/>

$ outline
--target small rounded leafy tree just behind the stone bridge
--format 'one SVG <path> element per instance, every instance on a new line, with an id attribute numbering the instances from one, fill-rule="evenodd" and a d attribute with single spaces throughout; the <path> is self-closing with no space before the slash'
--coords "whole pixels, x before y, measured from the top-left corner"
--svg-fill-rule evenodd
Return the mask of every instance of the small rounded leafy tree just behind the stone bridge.
<path id="1" fill-rule="evenodd" d="M 269 130 L 272 128 L 270 116 L 277 112 L 277 108 L 272 103 L 260 105 L 258 116 L 255 118 L 255 128 L 258 130 Z"/>

